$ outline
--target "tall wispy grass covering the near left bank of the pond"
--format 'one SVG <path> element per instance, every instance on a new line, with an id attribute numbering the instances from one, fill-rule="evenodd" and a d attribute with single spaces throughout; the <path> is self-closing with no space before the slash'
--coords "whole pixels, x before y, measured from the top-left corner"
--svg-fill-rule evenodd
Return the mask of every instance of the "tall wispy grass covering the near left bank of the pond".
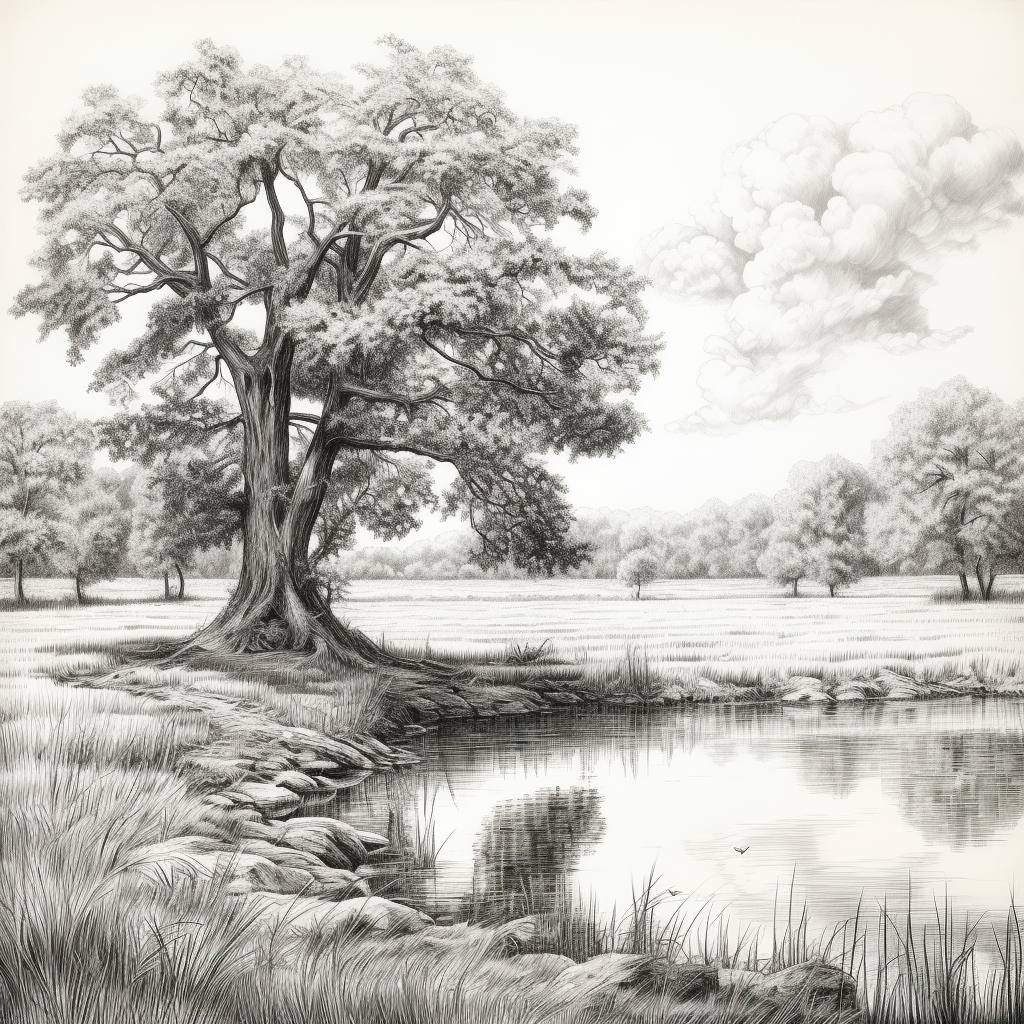
<path id="1" fill-rule="evenodd" d="M 238 817 L 173 770 L 214 723 L 121 692 L 0 693 L 5 1024 L 529 1024 L 569 1007 L 565 991 L 525 1006 L 470 983 L 508 929 L 298 931 L 287 912 L 268 928 L 258 895 L 229 895 L 226 877 L 139 870 L 156 844 L 238 836 Z"/>

